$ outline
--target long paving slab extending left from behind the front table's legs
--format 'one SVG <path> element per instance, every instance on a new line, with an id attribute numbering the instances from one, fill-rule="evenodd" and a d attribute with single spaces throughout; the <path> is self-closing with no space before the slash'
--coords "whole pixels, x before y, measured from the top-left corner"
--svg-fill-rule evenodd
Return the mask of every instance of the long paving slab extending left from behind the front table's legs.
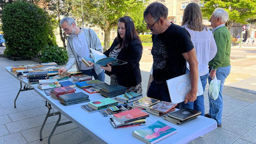
<path id="1" fill-rule="evenodd" d="M 12 133 L 16 133 L 18 131 L 24 131 L 26 129 L 31 129 L 34 127 L 38 127 L 38 126 L 42 126 L 42 123 L 45 120 L 45 116 L 46 115 L 39 115 L 33 118 L 28 118 L 25 120 L 20 120 L 17 122 L 12 122 L 12 123 L 8 123 L 5 124 L 7 129 L 9 130 L 9 132 Z M 61 120 L 66 119 L 64 116 L 61 117 Z M 46 124 L 48 123 L 52 123 L 52 122 L 57 122 L 58 120 L 58 115 L 55 116 L 51 116 L 47 119 Z"/>

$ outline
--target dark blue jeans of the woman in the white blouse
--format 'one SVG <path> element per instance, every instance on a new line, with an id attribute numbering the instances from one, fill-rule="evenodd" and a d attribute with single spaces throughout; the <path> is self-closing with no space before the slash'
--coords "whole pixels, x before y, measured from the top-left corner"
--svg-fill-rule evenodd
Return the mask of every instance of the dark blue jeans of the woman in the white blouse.
<path id="1" fill-rule="evenodd" d="M 189 70 L 186 70 L 186 73 L 189 73 Z M 200 80 L 203 86 L 203 90 L 205 92 L 205 86 L 207 84 L 207 78 L 209 76 L 209 73 L 200 76 Z M 202 113 L 200 115 L 205 116 L 205 103 L 204 103 L 204 95 L 199 95 L 197 96 L 197 99 L 194 102 L 187 102 L 186 104 L 184 104 L 184 102 L 182 102 L 182 108 L 189 108 L 189 109 L 194 109 L 196 111 L 201 111 Z"/>

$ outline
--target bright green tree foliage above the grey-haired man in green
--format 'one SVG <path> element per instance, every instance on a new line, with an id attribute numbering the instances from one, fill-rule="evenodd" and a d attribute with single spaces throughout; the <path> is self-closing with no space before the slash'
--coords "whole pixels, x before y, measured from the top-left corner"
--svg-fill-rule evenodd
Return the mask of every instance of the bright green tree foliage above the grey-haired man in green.
<path id="1" fill-rule="evenodd" d="M 235 23 L 246 24 L 248 19 L 256 17 L 256 0 L 202 0 L 202 13 L 210 18 L 215 8 L 224 8 L 229 19 L 226 22 L 228 29 Z"/>

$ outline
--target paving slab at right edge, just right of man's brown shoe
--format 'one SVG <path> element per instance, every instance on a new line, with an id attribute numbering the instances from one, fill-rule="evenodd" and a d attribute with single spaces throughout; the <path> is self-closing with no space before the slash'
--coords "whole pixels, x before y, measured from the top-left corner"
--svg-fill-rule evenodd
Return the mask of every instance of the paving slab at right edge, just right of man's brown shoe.
<path id="1" fill-rule="evenodd" d="M 231 115 L 222 120 L 222 125 L 222 129 L 244 135 L 249 129 L 252 129 L 256 125 L 256 122 L 251 122 Z"/>

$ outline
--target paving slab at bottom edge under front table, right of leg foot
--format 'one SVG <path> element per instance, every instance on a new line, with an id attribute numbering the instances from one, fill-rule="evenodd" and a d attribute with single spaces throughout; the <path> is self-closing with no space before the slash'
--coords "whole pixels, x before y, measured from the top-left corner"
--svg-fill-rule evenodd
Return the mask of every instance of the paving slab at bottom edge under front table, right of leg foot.
<path id="1" fill-rule="evenodd" d="M 92 137 L 87 134 L 86 132 L 84 132 L 83 130 L 81 130 L 80 128 L 76 128 L 76 129 L 72 129 L 69 131 L 65 131 L 63 133 L 60 134 L 56 134 L 53 135 L 51 137 L 51 143 L 53 144 L 63 144 L 63 143 L 81 143 L 84 142 L 86 140 L 91 139 Z M 43 138 L 42 141 L 34 141 L 32 143 L 29 144 L 47 144 L 48 141 L 48 137 L 47 138 Z"/>

